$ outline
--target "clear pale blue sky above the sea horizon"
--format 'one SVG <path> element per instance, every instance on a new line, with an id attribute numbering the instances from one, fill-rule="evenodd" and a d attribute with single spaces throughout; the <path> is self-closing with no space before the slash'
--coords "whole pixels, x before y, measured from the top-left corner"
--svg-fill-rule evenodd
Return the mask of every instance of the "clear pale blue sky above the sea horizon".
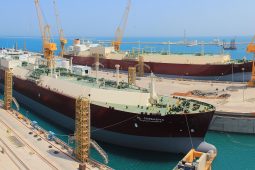
<path id="1" fill-rule="evenodd" d="M 41 0 L 56 35 L 52 0 Z M 127 0 L 57 0 L 67 36 L 114 36 Z M 254 0 L 132 0 L 127 37 L 255 34 Z M 38 36 L 33 0 L 1 0 L 0 36 Z"/>

